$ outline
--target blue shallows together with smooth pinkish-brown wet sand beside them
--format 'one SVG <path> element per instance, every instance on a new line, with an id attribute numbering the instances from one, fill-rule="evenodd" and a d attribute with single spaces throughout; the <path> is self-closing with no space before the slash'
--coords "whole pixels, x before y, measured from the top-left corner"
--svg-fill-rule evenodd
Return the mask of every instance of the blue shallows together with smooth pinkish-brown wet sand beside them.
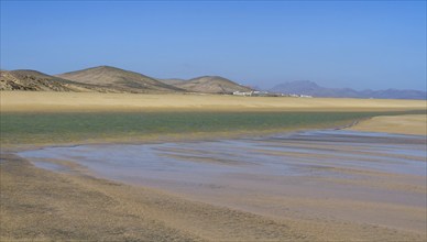
<path id="1" fill-rule="evenodd" d="M 67 172 L 58 161 L 73 162 L 99 177 L 272 217 L 318 216 L 413 231 L 425 231 L 427 223 L 426 136 L 322 130 L 19 155 L 41 168 Z"/>

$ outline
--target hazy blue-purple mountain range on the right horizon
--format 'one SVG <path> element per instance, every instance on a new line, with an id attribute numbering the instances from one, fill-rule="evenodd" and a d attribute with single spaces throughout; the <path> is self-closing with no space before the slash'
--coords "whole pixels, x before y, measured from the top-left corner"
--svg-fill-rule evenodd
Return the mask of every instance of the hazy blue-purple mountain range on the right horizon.
<path id="1" fill-rule="evenodd" d="M 427 99 L 426 91 L 419 90 L 387 89 L 358 91 L 351 88 L 326 88 L 309 80 L 297 80 L 281 84 L 269 91 L 330 98 Z"/>

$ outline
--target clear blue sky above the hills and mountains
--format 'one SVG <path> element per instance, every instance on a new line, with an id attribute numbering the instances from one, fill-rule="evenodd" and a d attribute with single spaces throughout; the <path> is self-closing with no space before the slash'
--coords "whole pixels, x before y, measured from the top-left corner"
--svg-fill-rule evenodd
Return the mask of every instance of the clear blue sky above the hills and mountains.
<path id="1" fill-rule="evenodd" d="M 426 1 L 1 1 L 1 68 L 426 89 Z"/>

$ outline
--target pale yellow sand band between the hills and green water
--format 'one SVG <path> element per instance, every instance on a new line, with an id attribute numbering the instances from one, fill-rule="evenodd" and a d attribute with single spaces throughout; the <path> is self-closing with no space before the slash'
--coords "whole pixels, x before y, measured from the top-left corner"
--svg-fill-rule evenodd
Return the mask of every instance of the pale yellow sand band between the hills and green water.
<path id="1" fill-rule="evenodd" d="M 64 111 L 398 111 L 425 100 L 1 91 L 2 112 Z"/>

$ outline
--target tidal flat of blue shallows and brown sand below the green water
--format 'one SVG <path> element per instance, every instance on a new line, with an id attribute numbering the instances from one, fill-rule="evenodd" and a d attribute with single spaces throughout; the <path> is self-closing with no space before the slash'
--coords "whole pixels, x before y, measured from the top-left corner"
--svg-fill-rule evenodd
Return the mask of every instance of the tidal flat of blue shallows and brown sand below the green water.
<path id="1" fill-rule="evenodd" d="M 425 241 L 425 146 L 423 135 L 322 130 L 22 151 L 0 163 L 2 235 Z"/>

